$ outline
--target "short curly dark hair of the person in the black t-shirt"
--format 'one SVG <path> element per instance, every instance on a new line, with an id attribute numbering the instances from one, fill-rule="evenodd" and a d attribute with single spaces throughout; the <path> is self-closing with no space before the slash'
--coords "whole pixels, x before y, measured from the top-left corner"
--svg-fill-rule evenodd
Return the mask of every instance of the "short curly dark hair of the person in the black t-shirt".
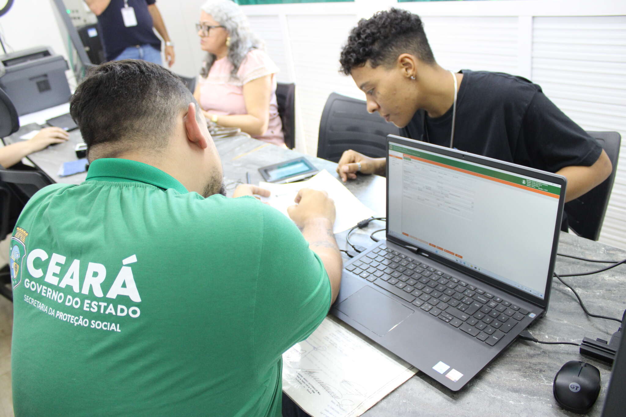
<path id="1" fill-rule="evenodd" d="M 393 66 L 400 54 L 409 53 L 428 64 L 434 64 L 433 51 L 426 39 L 424 25 L 417 14 L 392 8 L 369 19 L 361 19 L 352 29 L 341 51 L 340 71 L 349 75 L 352 68 L 367 61 L 376 68 Z"/>

